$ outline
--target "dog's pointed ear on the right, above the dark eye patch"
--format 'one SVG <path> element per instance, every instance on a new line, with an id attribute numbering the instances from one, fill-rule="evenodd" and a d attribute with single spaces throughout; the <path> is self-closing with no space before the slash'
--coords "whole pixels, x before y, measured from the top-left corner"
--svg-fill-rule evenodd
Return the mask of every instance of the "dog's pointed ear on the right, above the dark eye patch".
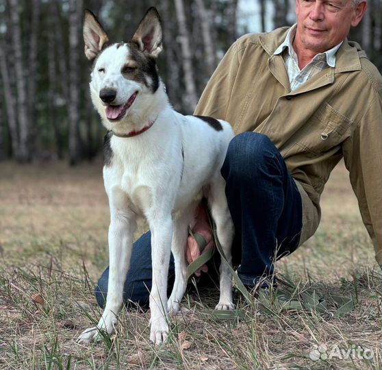
<path id="1" fill-rule="evenodd" d="M 147 10 L 131 41 L 153 58 L 157 58 L 162 51 L 162 26 L 160 15 L 154 7 Z"/>

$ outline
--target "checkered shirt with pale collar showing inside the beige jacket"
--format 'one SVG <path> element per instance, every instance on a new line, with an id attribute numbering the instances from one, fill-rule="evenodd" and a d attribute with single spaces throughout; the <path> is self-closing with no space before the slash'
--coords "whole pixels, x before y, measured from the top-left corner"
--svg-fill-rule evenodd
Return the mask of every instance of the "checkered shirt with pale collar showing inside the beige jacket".
<path id="1" fill-rule="evenodd" d="M 302 84 L 317 73 L 323 71 L 326 68 L 335 67 L 335 53 L 342 45 L 342 42 L 332 49 L 325 51 L 324 53 L 318 53 L 309 64 L 307 64 L 301 71 L 298 67 L 298 58 L 296 52 L 293 49 L 292 42 L 296 34 L 297 23 L 290 27 L 290 30 L 285 38 L 285 41 L 275 50 L 275 55 L 283 54 L 285 66 L 288 72 L 290 90 L 294 91 Z M 288 53 L 283 51 L 288 49 Z"/>

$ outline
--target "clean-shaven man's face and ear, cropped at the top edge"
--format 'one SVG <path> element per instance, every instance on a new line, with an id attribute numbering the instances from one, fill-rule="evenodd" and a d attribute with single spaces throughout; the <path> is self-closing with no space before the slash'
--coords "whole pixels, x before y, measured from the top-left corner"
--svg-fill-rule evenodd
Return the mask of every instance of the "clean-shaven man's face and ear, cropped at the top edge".
<path id="1" fill-rule="evenodd" d="M 364 0 L 356 7 L 352 0 L 296 0 L 296 42 L 315 53 L 327 51 L 346 38 L 365 10 Z"/>

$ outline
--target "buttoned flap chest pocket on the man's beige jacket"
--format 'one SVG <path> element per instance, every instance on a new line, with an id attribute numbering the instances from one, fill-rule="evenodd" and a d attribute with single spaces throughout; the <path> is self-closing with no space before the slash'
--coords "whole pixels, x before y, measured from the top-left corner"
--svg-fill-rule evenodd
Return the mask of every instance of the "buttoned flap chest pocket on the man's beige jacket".
<path id="1" fill-rule="evenodd" d="M 352 124 L 352 119 L 324 103 L 307 122 L 298 144 L 316 155 L 324 153 L 342 143 Z"/>

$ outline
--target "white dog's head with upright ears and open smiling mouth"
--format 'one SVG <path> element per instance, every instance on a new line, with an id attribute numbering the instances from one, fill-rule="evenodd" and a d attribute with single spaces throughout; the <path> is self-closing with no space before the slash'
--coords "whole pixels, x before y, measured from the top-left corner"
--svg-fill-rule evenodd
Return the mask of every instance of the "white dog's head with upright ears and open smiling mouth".
<path id="1" fill-rule="evenodd" d="M 94 60 L 90 92 L 108 130 L 124 129 L 129 117 L 149 105 L 158 89 L 156 58 L 162 51 L 162 27 L 155 8 L 143 17 L 130 42 L 109 45 L 97 18 L 86 10 L 85 55 Z"/>

